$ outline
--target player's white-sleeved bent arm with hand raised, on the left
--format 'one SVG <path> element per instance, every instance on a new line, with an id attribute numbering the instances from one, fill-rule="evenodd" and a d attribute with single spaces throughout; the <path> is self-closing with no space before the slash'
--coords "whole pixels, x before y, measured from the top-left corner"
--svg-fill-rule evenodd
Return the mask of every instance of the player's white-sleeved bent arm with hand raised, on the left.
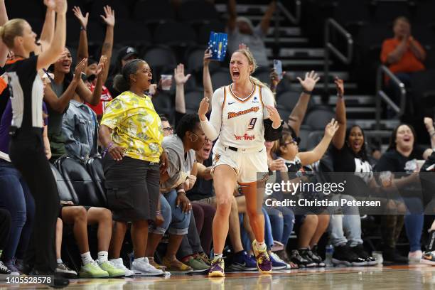
<path id="1" fill-rule="evenodd" d="M 222 104 L 220 98 L 223 96 L 223 88 L 215 91 L 212 97 L 212 111 L 210 115 L 210 121 L 205 114 L 208 112 L 209 101 L 208 97 L 204 97 L 200 102 L 198 109 L 198 115 L 201 121 L 201 127 L 208 139 L 215 141 L 218 139 L 220 133 L 220 127 L 222 126 Z"/>

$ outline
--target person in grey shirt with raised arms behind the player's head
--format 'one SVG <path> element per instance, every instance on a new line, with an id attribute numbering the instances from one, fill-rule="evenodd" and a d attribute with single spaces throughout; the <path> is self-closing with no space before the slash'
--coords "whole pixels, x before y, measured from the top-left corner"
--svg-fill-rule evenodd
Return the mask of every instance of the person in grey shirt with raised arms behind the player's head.
<path id="1" fill-rule="evenodd" d="M 254 55 L 259 67 L 269 67 L 264 37 L 267 36 L 270 20 L 276 9 L 276 1 L 272 0 L 262 21 L 254 27 L 249 18 L 237 17 L 236 0 L 228 0 L 228 52 L 230 55 L 239 49 L 240 43 L 245 43 Z"/>

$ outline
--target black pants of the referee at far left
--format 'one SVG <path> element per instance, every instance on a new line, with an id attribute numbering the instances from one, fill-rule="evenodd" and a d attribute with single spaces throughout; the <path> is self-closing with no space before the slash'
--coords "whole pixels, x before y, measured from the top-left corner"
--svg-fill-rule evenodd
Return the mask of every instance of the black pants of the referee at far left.
<path id="1" fill-rule="evenodd" d="M 21 172 L 36 205 L 31 242 L 25 262 L 41 273 L 53 273 L 56 268 L 55 228 L 59 215 L 58 186 L 45 157 L 42 130 L 19 129 L 11 139 L 9 156 Z"/>

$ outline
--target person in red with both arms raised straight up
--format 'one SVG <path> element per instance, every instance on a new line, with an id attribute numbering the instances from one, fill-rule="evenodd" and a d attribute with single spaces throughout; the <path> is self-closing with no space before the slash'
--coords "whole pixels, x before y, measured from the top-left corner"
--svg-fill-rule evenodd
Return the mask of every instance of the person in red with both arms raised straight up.
<path id="1" fill-rule="evenodd" d="M 104 86 L 104 83 L 107 80 L 107 76 L 109 75 L 109 64 L 112 58 L 112 48 L 113 48 L 113 34 L 114 34 L 114 24 L 115 17 L 114 11 L 110 6 L 104 6 L 104 16 L 101 16 L 104 23 L 106 23 L 106 36 L 104 38 L 104 42 L 102 45 L 101 55 L 104 55 L 107 58 L 107 67 L 103 70 L 102 73 L 102 94 L 100 102 L 96 106 L 92 106 L 92 104 L 88 104 L 90 108 L 97 114 L 97 119 L 101 120 L 102 114 L 104 113 L 104 109 L 106 109 L 107 104 L 112 100 L 112 95 L 110 94 L 107 87 Z M 77 50 L 77 60 L 82 60 L 83 58 L 87 58 L 87 66 L 85 68 L 86 80 L 85 83 L 89 87 L 90 91 L 93 92 L 95 90 L 96 81 L 97 81 L 97 70 L 98 70 L 98 61 L 92 60 L 89 58 L 89 53 L 87 51 L 87 20 L 89 18 L 89 14 L 83 16 L 80 7 L 75 6 L 73 8 L 74 15 L 80 21 L 80 25 L 82 29 L 80 29 L 80 40 Z"/>

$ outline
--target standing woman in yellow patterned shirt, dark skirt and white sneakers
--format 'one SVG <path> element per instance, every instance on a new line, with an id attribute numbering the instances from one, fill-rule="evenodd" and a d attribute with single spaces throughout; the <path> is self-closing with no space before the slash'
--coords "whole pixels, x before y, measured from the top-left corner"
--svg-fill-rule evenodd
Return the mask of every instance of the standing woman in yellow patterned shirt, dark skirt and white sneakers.
<path id="1" fill-rule="evenodd" d="M 127 268 L 120 258 L 122 242 L 131 225 L 134 274 L 159 276 L 163 272 L 149 264 L 145 257 L 149 220 L 156 220 L 159 200 L 159 160 L 166 166 L 161 142 L 163 131 L 159 115 L 151 99 L 144 95 L 151 85 L 151 69 L 144 60 L 130 60 L 114 85 L 122 94 L 109 103 L 104 112 L 100 141 L 106 154 L 103 158 L 108 208 L 115 221 L 111 262 L 119 269 Z"/>

